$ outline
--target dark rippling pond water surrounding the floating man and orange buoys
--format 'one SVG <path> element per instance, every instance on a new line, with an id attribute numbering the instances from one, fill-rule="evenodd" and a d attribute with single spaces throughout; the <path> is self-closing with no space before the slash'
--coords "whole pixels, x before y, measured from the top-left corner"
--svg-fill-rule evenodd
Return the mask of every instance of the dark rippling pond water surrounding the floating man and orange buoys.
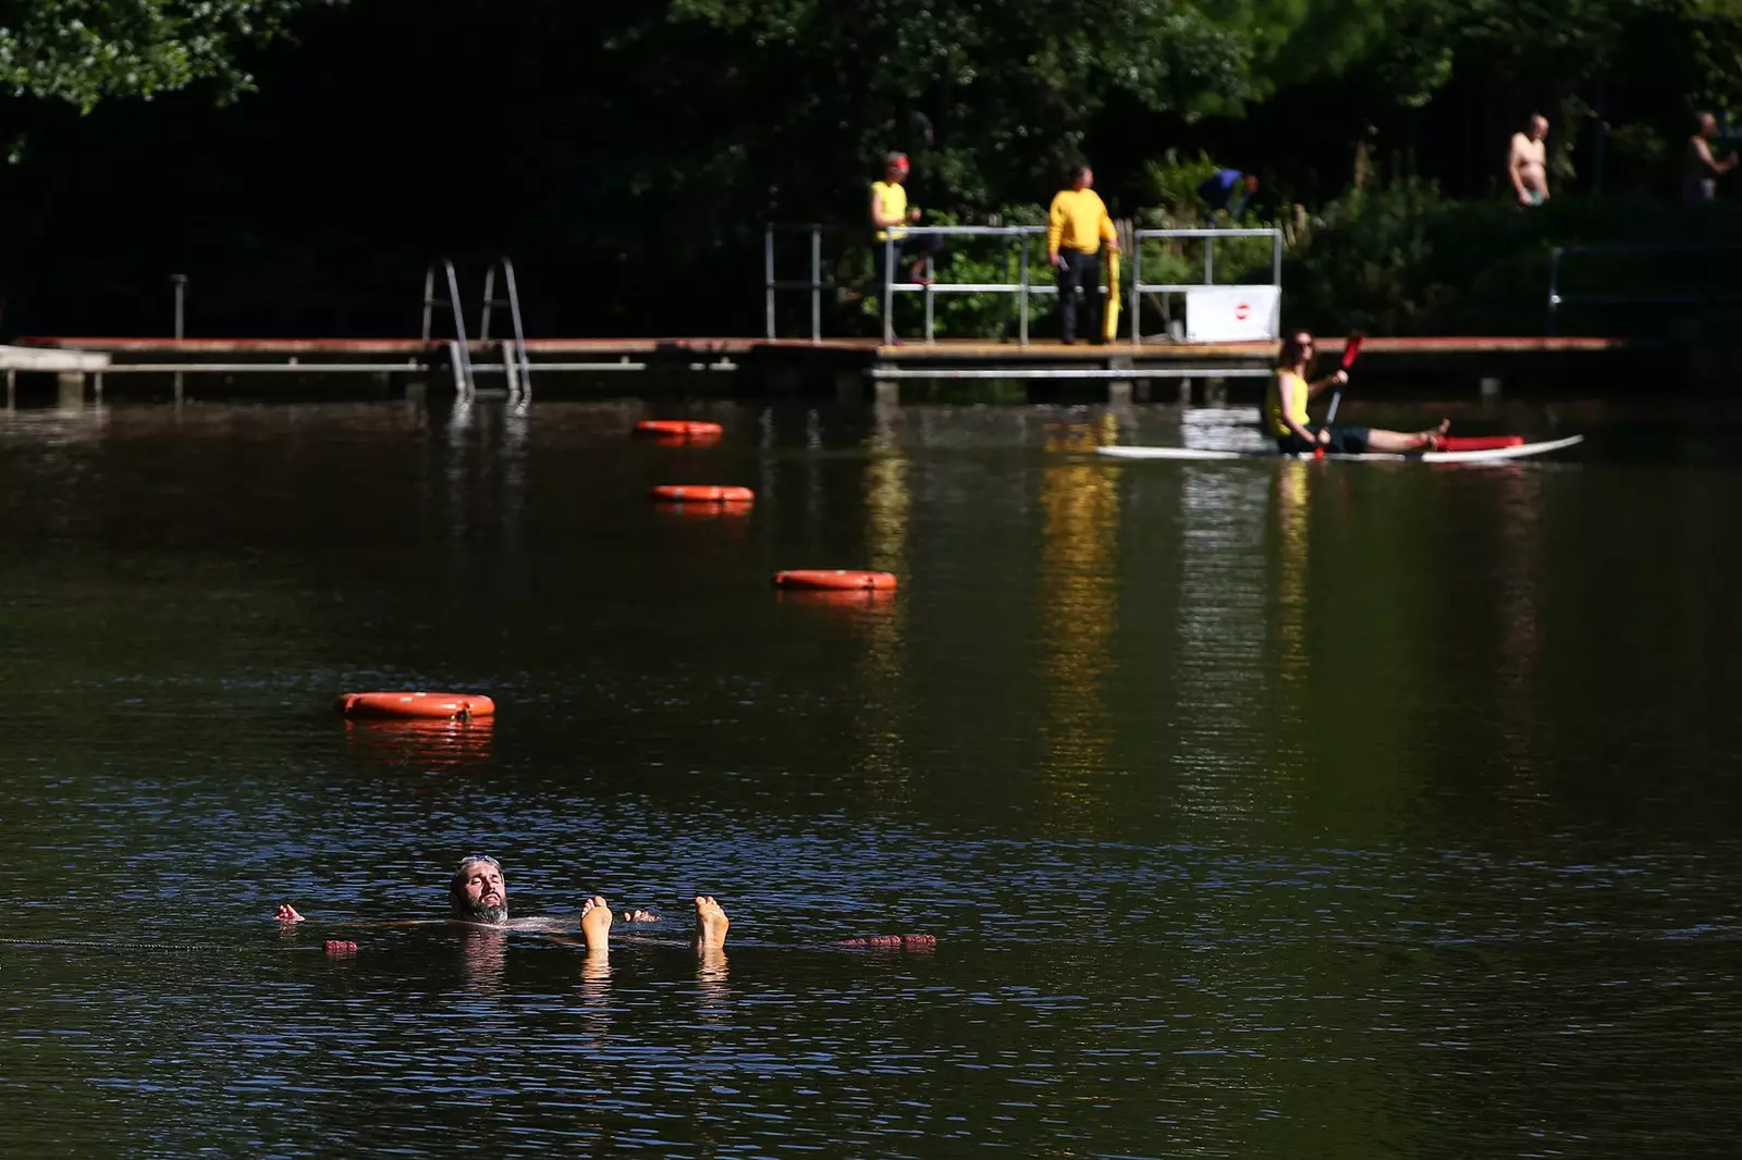
<path id="1" fill-rule="evenodd" d="M 1735 1153 L 1735 415 L 1455 413 L 1592 439 L 1428 469 L 645 413 L 0 418 L 0 1151 Z M 329 711 L 416 686 L 502 711 Z M 519 914 L 665 920 L 341 925 L 472 850 Z"/>

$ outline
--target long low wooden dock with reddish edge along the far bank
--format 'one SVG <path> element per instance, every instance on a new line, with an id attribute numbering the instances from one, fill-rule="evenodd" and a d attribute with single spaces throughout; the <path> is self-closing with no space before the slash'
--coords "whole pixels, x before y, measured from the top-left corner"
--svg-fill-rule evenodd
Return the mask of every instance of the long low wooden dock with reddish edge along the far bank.
<path id="1" fill-rule="evenodd" d="M 1340 354 L 1343 340 L 1322 340 L 1322 354 Z M 1620 338 L 1367 338 L 1364 373 L 1455 371 L 1474 394 L 1477 383 L 1531 378 L 1592 361 L 1613 364 L 1641 347 Z M 52 373 L 94 383 L 101 397 L 110 376 L 169 376 L 181 397 L 183 380 L 200 390 L 247 380 L 267 388 L 286 378 L 364 376 L 380 383 L 422 381 L 436 388 L 488 387 L 502 376 L 509 390 L 519 371 L 514 345 L 470 341 L 462 357 L 451 340 L 418 338 L 21 338 L 0 348 L 9 383 L 17 373 Z M 876 340 L 766 338 L 533 338 L 524 348 L 533 387 L 564 394 L 634 394 L 638 383 L 693 394 L 833 394 L 888 395 L 902 381 L 1028 381 L 1103 385 L 1110 397 L 1186 399 L 1193 387 L 1216 390 L 1232 380 L 1268 374 L 1275 343 L 1057 341 L 996 343 L 942 340 L 881 345 Z M 354 380 L 355 381 L 355 380 Z M 1153 387 L 1155 383 L 1167 383 Z M 970 388 L 969 388 L 970 390 Z M 1078 388 L 1080 390 L 1080 388 Z M 1486 390 L 1486 387 L 1484 387 Z"/>

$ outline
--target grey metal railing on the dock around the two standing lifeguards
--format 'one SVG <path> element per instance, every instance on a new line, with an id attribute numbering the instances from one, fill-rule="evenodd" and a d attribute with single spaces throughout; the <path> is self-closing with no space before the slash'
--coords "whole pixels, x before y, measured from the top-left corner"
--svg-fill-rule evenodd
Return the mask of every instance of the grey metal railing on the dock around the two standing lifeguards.
<path id="1" fill-rule="evenodd" d="M 847 226 L 840 225 L 770 225 L 763 233 L 763 291 L 765 291 L 765 312 L 766 312 L 766 333 L 768 338 L 777 338 L 777 314 L 775 314 L 775 296 L 779 291 L 810 291 L 810 341 L 822 341 L 822 293 L 834 289 L 834 284 L 824 277 L 822 272 L 822 235 L 824 233 L 843 233 L 850 232 Z M 808 233 L 810 235 L 810 279 L 782 279 L 779 277 L 775 266 L 775 235 L 777 233 Z M 937 319 L 935 303 L 937 294 L 1014 294 L 1016 296 L 1016 315 L 1017 315 L 1017 343 L 1028 345 L 1028 317 L 1030 317 L 1030 298 L 1035 294 L 1052 294 L 1057 296 L 1059 287 L 1049 282 L 1031 282 L 1033 277 L 1033 240 L 1047 233 L 1045 226 L 906 226 L 890 232 L 883 242 L 883 282 L 876 287 L 880 296 L 880 307 L 883 315 L 883 343 L 895 341 L 895 294 L 923 294 L 925 298 L 925 341 L 937 341 Z M 895 244 L 904 239 L 913 237 L 1007 237 L 1010 239 L 1010 249 L 1017 260 L 1017 275 L 1014 282 L 939 282 L 935 273 L 935 263 L 930 254 L 925 256 L 925 280 L 923 282 L 906 282 L 895 279 L 895 270 L 899 263 L 895 260 Z M 1131 254 L 1131 341 L 1132 345 L 1143 341 L 1143 327 L 1138 320 L 1138 308 L 1141 305 L 1143 294 L 1155 293 L 1186 293 L 1202 286 L 1216 286 L 1216 240 L 1218 239 L 1235 239 L 1235 237 L 1268 237 L 1272 239 L 1272 261 L 1270 261 L 1270 282 L 1268 286 L 1282 286 L 1282 230 L 1275 228 L 1256 228 L 1256 230 L 1134 230 L 1132 232 L 1132 254 Z M 1202 239 L 1204 240 L 1204 280 L 1190 284 L 1176 282 L 1143 282 L 1143 260 L 1141 249 L 1144 240 L 1151 239 Z M 1045 261 L 1040 263 L 1042 266 Z M 1106 293 L 1106 287 L 1097 287 L 1097 293 Z"/>

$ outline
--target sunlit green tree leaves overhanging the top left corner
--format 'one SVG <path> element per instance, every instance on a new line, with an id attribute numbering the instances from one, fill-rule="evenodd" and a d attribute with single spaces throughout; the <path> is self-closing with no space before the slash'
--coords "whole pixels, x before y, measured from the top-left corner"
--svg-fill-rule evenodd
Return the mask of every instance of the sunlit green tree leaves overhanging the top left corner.
<path id="1" fill-rule="evenodd" d="M 70 101 L 152 98 L 199 80 L 219 99 L 253 87 L 246 45 L 286 31 L 308 5 L 343 0 L 7 0 L 0 3 L 0 84 L 12 96 Z"/>

